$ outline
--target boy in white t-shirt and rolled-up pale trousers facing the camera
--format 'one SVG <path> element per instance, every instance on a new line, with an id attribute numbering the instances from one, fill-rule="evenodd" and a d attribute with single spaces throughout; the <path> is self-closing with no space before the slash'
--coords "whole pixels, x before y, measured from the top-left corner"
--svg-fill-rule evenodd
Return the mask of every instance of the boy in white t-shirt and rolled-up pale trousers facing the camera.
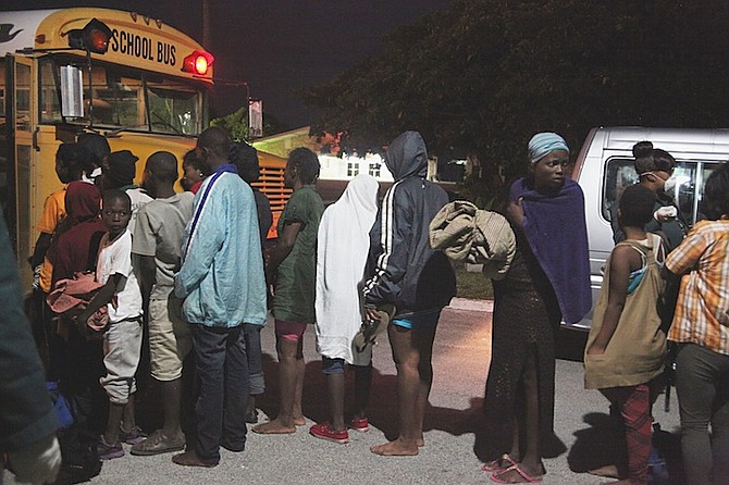
<path id="1" fill-rule="evenodd" d="M 129 196 L 119 189 L 103 194 L 101 219 L 109 233 L 101 238 L 96 279 L 104 286 L 77 318 L 77 322 L 86 322 L 103 306 L 109 312 L 109 329 L 103 334 L 107 375 L 101 377 L 109 397 L 109 419 L 98 445 L 102 460 L 123 457 L 121 442 L 134 445 L 144 438 L 134 421 L 134 374 L 141 350 L 141 291 L 132 271 L 132 234 L 127 229 L 131 216 Z"/>

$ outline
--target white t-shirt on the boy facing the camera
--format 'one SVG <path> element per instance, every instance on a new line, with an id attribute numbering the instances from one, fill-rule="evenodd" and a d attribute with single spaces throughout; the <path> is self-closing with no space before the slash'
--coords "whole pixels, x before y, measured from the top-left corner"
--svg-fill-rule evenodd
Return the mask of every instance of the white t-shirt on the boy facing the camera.
<path id="1" fill-rule="evenodd" d="M 141 290 L 132 268 L 132 233 L 127 228 L 116 240 L 110 241 L 109 234 L 101 238 L 99 260 L 96 263 L 96 281 L 107 284 L 109 277 L 119 273 L 124 276 L 122 289 L 116 290 L 116 308 L 109 303 L 111 323 L 141 315 Z"/>

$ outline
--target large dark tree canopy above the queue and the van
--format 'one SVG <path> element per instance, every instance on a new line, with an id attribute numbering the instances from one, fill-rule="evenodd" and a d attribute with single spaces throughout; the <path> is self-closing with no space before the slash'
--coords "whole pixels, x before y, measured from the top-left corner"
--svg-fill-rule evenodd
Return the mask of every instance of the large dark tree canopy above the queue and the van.
<path id="1" fill-rule="evenodd" d="M 540 130 L 577 153 L 594 126 L 727 126 L 728 24 L 718 0 L 455 0 L 302 97 L 345 149 L 418 129 L 516 175 Z"/>

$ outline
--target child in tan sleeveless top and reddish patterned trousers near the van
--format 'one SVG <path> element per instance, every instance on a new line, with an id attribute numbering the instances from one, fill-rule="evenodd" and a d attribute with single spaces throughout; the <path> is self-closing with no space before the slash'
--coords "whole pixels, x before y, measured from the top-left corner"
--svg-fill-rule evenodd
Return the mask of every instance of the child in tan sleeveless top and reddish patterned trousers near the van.
<path id="1" fill-rule="evenodd" d="M 666 334 L 656 310 L 664 283 L 660 236 L 646 233 L 655 195 L 641 185 L 620 198 L 618 222 L 626 239 L 607 261 L 584 356 L 584 386 L 600 391 L 620 410 L 626 427 L 629 478 L 647 482 L 651 405 L 664 371 Z"/>

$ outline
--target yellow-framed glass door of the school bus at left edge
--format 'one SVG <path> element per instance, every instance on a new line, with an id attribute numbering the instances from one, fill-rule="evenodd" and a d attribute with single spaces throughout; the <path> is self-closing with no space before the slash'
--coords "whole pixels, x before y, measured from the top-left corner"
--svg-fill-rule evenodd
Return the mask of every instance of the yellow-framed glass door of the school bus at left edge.
<path id="1" fill-rule="evenodd" d="M 33 160 L 33 59 L 5 55 L 4 129 L 0 139 L 0 201 L 11 242 L 21 269 L 21 284 L 29 287 L 32 273 L 24 264 L 30 256 L 30 202 L 36 197 L 30 185 Z"/>

